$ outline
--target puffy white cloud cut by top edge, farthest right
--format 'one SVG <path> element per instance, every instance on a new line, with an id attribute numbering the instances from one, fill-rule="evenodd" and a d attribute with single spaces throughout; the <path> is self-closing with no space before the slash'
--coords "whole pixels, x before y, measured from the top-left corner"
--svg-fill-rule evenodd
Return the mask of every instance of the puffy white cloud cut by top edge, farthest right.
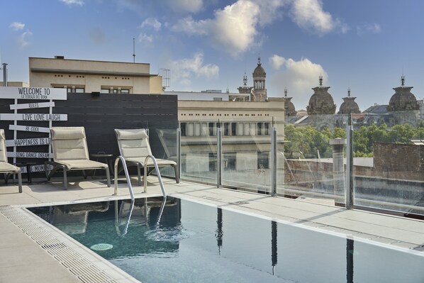
<path id="1" fill-rule="evenodd" d="M 333 16 L 323 11 L 323 3 L 320 0 L 294 0 L 291 18 L 301 28 L 312 30 L 318 35 L 329 33 L 337 26 Z"/>

